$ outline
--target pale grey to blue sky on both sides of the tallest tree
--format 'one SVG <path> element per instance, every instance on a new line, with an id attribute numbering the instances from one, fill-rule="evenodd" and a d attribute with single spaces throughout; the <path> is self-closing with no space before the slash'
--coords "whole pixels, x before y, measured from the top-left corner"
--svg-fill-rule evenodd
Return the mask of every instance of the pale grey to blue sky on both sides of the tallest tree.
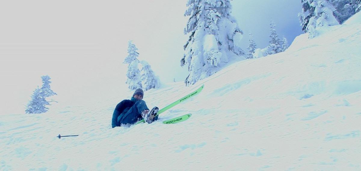
<path id="1" fill-rule="evenodd" d="M 302 33 L 297 18 L 300 0 L 231 3 L 232 15 L 244 31 L 245 51 L 249 32 L 259 48 L 268 44 L 271 18 L 277 33 L 290 43 Z M 42 75 L 52 77 L 52 87 L 65 79 L 85 81 L 87 76 L 93 81 L 87 84 L 123 84 L 129 40 L 161 81 L 183 81 L 188 74 L 179 61 L 188 39 L 183 34 L 186 8 L 186 0 L 1 1 L 1 89 L 8 99 L 29 96 L 41 85 Z"/>

